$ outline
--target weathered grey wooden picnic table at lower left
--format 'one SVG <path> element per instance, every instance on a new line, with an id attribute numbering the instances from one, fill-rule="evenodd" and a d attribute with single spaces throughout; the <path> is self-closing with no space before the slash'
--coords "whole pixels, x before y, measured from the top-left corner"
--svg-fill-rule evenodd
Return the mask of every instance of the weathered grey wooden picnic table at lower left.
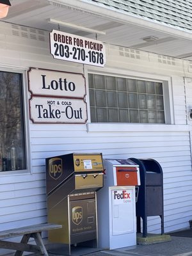
<path id="1" fill-rule="evenodd" d="M 13 228 L 0 231 L 0 248 L 16 250 L 15 256 L 21 256 L 23 252 L 33 252 L 38 255 L 48 256 L 45 245 L 42 241 L 41 232 L 61 228 L 61 225 L 44 223 L 28 227 Z M 4 241 L 8 237 L 23 236 L 20 243 Z M 35 244 L 28 244 L 29 238 L 35 239 Z"/>

